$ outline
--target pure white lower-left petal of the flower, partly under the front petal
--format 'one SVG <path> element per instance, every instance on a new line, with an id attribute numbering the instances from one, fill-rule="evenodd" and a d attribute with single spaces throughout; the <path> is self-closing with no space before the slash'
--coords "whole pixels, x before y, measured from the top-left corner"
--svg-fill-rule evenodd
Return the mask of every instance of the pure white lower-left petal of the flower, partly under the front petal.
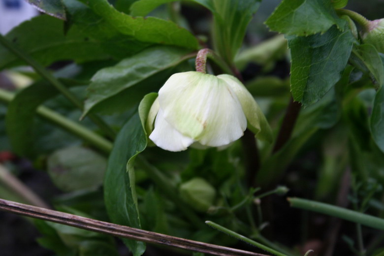
<path id="1" fill-rule="evenodd" d="M 158 147 L 174 152 L 186 150 L 193 143 L 193 139 L 184 136 L 165 121 L 161 109 L 155 120 L 155 129 L 149 138 Z"/>

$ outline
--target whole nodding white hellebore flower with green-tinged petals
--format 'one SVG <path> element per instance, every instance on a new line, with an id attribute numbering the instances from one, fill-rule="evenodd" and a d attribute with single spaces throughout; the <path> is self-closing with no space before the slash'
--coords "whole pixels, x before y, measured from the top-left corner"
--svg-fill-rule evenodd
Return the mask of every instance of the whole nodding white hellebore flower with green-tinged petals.
<path id="1" fill-rule="evenodd" d="M 227 145 L 244 134 L 247 120 L 253 132 L 263 130 L 261 137 L 272 140 L 254 97 L 238 79 L 189 71 L 173 74 L 161 87 L 146 129 L 160 148 L 182 151 L 192 143 Z"/>

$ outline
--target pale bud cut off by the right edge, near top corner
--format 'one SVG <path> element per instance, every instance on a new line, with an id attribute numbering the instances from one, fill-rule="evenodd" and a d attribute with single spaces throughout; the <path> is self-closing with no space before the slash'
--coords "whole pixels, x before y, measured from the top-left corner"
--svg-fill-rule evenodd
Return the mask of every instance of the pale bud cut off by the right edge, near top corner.
<path id="1" fill-rule="evenodd" d="M 364 43 L 372 44 L 378 52 L 384 53 L 384 19 L 370 21 L 361 38 Z"/>

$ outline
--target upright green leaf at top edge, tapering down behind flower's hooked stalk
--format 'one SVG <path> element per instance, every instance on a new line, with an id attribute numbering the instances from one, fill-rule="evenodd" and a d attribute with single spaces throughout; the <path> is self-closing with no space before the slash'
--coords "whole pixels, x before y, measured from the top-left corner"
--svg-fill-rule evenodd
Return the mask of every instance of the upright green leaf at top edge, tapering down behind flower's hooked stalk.
<path id="1" fill-rule="evenodd" d="M 261 0 L 197 1 L 212 6 L 214 15 L 213 39 L 215 50 L 232 64 L 243 43 L 245 32 Z"/>

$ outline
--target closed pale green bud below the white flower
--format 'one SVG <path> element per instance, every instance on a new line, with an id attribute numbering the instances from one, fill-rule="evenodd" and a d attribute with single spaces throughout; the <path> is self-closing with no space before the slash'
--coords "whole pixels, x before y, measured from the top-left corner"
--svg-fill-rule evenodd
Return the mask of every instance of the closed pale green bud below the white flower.
<path id="1" fill-rule="evenodd" d="M 207 212 L 216 197 L 216 190 L 206 180 L 193 178 L 180 186 L 181 198 L 193 209 Z"/>

